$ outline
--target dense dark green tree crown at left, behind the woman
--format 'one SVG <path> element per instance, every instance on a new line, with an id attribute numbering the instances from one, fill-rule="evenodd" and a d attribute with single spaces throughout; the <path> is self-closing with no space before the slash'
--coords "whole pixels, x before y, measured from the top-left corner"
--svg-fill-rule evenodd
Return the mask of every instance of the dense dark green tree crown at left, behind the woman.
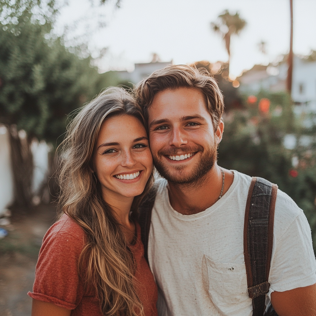
<path id="1" fill-rule="evenodd" d="M 23 19 L 20 33 L 0 28 L 0 122 L 56 144 L 67 114 L 116 79 L 100 75 L 90 58 L 70 53 L 60 38 L 45 39 L 50 27 Z"/>

